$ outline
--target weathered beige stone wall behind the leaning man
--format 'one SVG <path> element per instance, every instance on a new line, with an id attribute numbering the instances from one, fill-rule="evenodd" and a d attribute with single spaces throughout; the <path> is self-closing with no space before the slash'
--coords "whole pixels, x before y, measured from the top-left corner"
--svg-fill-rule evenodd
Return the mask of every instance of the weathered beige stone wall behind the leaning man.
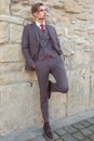
<path id="1" fill-rule="evenodd" d="M 25 72 L 21 47 L 24 25 L 33 21 L 33 2 L 0 0 L 1 136 L 42 125 L 37 77 Z M 48 23 L 55 26 L 59 36 L 70 86 L 68 94 L 53 93 L 50 100 L 50 119 L 54 121 L 94 108 L 94 1 L 41 2 L 49 10 Z"/>

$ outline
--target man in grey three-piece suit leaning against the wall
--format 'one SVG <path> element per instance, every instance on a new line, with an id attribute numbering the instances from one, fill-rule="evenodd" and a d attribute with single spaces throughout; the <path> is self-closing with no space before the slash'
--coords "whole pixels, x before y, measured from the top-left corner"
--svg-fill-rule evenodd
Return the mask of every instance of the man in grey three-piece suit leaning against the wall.
<path id="1" fill-rule="evenodd" d="M 31 13 L 36 22 L 25 26 L 22 47 L 26 59 L 26 69 L 36 70 L 38 77 L 44 136 L 52 141 L 54 137 L 50 127 L 49 99 L 51 92 L 68 92 L 68 79 L 64 68 L 64 54 L 55 28 L 45 23 L 44 4 L 35 3 L 31 7 Z M 54 76 L 56 82 L 49 80 L 50 74 Z"/>

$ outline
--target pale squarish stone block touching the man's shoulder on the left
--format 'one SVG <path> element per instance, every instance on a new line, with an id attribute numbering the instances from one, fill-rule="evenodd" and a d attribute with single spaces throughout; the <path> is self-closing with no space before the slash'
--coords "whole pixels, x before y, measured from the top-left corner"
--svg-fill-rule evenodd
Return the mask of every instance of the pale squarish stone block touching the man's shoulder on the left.
<path id="1" fill-rule="evenodd" d="M 22 42 L 23 26 L 10 24 L 10 41 Z"/>

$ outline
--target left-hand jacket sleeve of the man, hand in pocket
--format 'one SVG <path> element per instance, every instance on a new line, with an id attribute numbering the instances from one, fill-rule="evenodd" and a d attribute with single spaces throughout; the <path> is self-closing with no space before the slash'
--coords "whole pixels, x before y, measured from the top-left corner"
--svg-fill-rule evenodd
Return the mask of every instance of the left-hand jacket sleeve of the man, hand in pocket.
<path id="1" fill-rule="evenodd" d="M 33 60 L 31 59 L 31 55 L 29 53 L 29 34 L 28 34 L 28 25 L 24 27 L 23 36 L 22 36 L 22 51 L 24 53 L 24 56 L 26 59 L 26 62 L 29 64 L 29 66 L 32 66 L 35 64 Z"/>

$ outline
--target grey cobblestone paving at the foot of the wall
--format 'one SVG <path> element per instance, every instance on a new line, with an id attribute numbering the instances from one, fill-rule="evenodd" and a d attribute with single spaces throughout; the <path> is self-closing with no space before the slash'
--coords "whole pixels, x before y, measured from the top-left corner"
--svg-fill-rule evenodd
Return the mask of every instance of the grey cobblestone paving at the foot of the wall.
<path id="1" fill-rule="evenodd" d="M 94 117 L 62 127 L 54 132 L 54 141 L 94 141 Z M 46 141 L 38 136 L 27 141 Z"/>

